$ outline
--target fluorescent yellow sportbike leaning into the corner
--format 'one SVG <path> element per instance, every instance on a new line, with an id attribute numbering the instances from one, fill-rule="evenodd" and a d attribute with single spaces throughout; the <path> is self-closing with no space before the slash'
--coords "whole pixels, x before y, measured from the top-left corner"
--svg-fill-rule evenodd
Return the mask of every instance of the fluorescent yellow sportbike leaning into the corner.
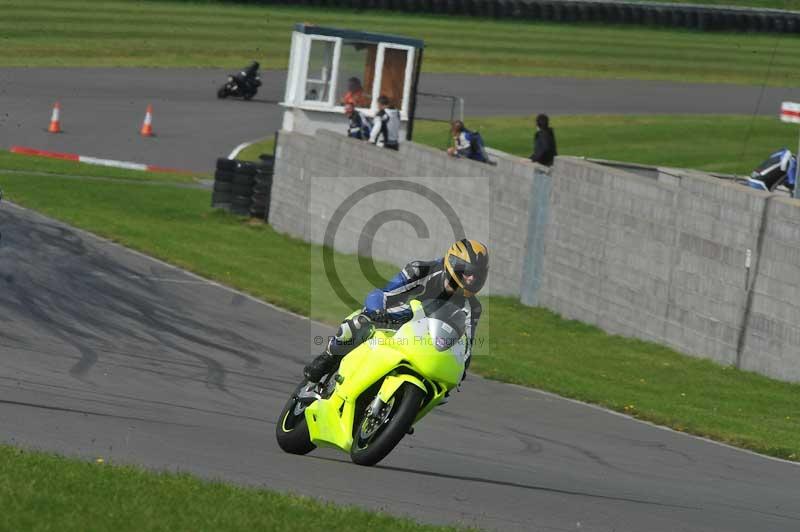
<path id="1" fill-rule="evenodd" d="M 336 447 L 356 464 L 375 465 L 458 386 L 466 312 L 441 300 L 410 305 L 410 321 L 397 330 L 376 329 L 337 370 L 295 389 L 278 418 L 281 449 L 307 454 Z"/>

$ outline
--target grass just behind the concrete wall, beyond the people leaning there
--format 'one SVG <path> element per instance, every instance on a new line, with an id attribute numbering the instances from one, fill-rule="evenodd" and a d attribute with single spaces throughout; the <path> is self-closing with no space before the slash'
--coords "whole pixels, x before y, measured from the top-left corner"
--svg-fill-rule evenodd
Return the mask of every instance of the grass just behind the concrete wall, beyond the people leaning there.
<path id="1" fill-rule="evenodd" d="M 772 117 L 715 115 L 553 117 L 559 153 L 707 172 L 746 175 L 780 147 L 797 148 L 797 126 Z M 467 120 L 487 145 L 520 157 L 532 151 L 534 116 Z M 419 120 L 414 141 L 444 149 L 444 122 Z M 272 153 L 273 139 L 250 146 L 240 158 Z"/>

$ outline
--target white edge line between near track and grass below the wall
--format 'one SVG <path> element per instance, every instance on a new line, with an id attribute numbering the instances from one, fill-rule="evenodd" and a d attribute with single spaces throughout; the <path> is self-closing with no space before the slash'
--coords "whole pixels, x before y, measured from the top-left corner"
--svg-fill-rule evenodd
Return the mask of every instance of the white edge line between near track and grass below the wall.
<path id="1" fill-rule="evenodd" d="M 217 288 L 221 288 L 222 290 L 225 290 L 225 291 L 240 295 L 240 296 L 242 296 L 242 297 L 244 297 L 244 298 L 246 298 L 246 299 L 248 299 L 248 300 L 250 300 L 250 301 L 252 301 L 254 303 L 258 303 L 260 305 L 264 305 L 265 307 L 271 308 L 271 309 L 276 310 L 278 312 L 282 312 L 284 314 L 288 314 L 290 316 L 294 316 L 294 317 L 299 318 L 301 320 L 310 321 L 310 322 L 316 323 L 316 324 L 318 324 L 318 325 L 320 325 L 322 327 L 326 327 L 326 328 L 332 329 L 332 326 L 328 325 L 327 323 L 322 323 L 322 322 L 319 322 L 319 321 L 316 321 L 316 320 L 312 320 L 312 319 L 308 318 L 307 316 L 302 316 L 300 314 L 297 314 L 296 312 L 292 312 L 291 310 L 286 310 L 284 308 L 278 307 L 276 305 L 273 305 L 272 303 L 269 303 L 267 301 L 263 301 L 263 300 L 258 299 L 256 297 L 253 297 L 250 294 L 246 294 L 244 292 L 236 290 L 235 288 L 231 288 L 230 286 L 225 286 L 224 284 L 220 284 L 220 283 L 218 283 L 216 281 L 212 281 L 210 279 L 206 279 L 205 277 L 201 277 L 201 276 L 199 276 L 199 275 L 197 275 L 195 273 L 192 273 L 190 271 L 184 270 L 183 268 L 180 268 L 178 266 L 174 266 L 172 264 L 164 262 L 163 260 L 157 259 L 155 257 L 151 257 L 149 255 L 145 255 L 144 253 L 142 253 L 140 251 L 136 251 L 135 249 L 127 248 L 127 247 L 123 246 L 122 244 L 117 244 L 116 242 L 112 242 L 112 241 L 110 241 L 110 240 L 108 240 L 106 238 L 103 238 L 103 237 L 99 236 L 99 235 L 96 235 L 94 233 L 90 233 L 89 231 L 85 231 L 83 229 L 79 229 L 77 227 L 73 227 L 73 226 L 71 226 L 71 225 L 69 225 L 67 223 L 64 223 L 64 222 L 62 222 L 60 220 L 56 220 L 54 218 L 51 218 L 51 217 L 46 216 L 44 214 L 41 214 L 41 213 L 39 213 L 37 211 L 31 210 L 31 209 L 26 209 L 25 207 L 22 207 L 20 205 L 17 205 L 15 203 L 11 203 L 11 202 L 4 202 L 4 203 L 9 205 L 9 206 L 12 206 L 12 207 L 14 207 L 16 209 L 19 209 L 21 211 L 27 211 L 27 212 L 33 213 L 36 216 L 39 216 L 39 217 L 44 218 L 46 220 L 50 220 L 51 222 L 54 222 L 56 224 L 63 225 L 65 227 L 69 227 L 70 229 L 74 230 L 77 233 L 82 233 L 82 234 L 84 234 L 84 235 L 86 235 L 88 237 L 91 237 L 91 238 L 93 238 L 93 239 L 95 239 L 97 241 L 103 242 L 104 244 L 109 244 L 109 245 L 114 246 L 116 248 L 123 249 L 123 250 L 125 250 L 125 251 L 127 251 L 129 253 L 133 253 L 134 255 L 137 255 L 137 256 L 142 257 L 142 258 L 147 259 L 147 260 L 150 260 L 152 262 L 155 262 L 157 264 L 160 264 L 160 265 L 165 266 L 167 268 L 170 268 L 172 270 L 182 272 L 185 275 L 188 275 L 189 277 L 197 279 L 198 281 L 202 281 L 203 283 L 207 283 L 207 284 L 210 284 L 212 286 L 216 286 Z M 540 390 L 539 388 L 530 388 L 530 387 L 522 386 L 522 385 L 519 385 L 519 384 L 511 384 L 511 383 L 507 383 L 507 382 L 487 379 L 486 377 L 483 377 L 481 375 L 476 375 L 476 376 L 478 378 L 482 379 L 482 380 L 491 381 L 492 383 L 500 384 L 502 386 L 511 386 L 513 388 L 520 388 L 520 389 L 528 391 L 528 392 L 534 392 L 534 393 L 538 393 L 538 394 L 541 394 L 541 395 L 546 395 L 546 396 L 551 397 L 551 398 L 556 399 L 556 400 L 567 401 L 567 402 L 570 402 L 570 403 L 573 403 L 573 404 L 582 405 L 582 406 L 591 408 L 592 410 L 598 410 L 600 412 L 605 412 L 607 414 L 611 414 L 611 415 L 614 415 L 614 416 L 625 418 L 625 419 L 627 419 L 629 421 L 633 421 L 633 422 L 636 422 L 636 423 L 642 423 L 644 425 L 649 425 L 651 427 L 654 427 L 654 428 L 657 428 L 657 429 L 660 429 L 660 430 L 666 430 L 668 432 L 672 432 L 673 434 L 678 434 L 678 435 L 685 436 L 687 438 L 691 438 L 691 439 L 694 439 L 694 440 L 700 440 L 700 441 L 703 441 L 703 442 L 706 442 L 706 443 L 710 443 L 712 445 L 718 445 L 720 447 L 725 447 L 726 449 L 730 449 L 732 451 L 738 451 L 740 453 L 749 454 L 751 456 L 755 456 L 755 457 L 758 457 L 758 458 L 764 458 L 766 460 L 771 460 L 773 462 L 780 462 L 780 463 L 783 463 L 783 464 L 791 464 L 791 465 L 793 465 L 795 467 L 800 467 L 800 462 L 792 462 L 791 460 L 784 460 L 783 458 L 777 458 L 775 456 L 769 456 L 769 455 L 766 455 L 766 454 L 760 454 L 760 453 L 757 453 L 755 451 L 751 451 L 750 449 L 743 449 L 741 447 L 735 447 L 735 446 L 729 445 L 727 443 L 719 442 L 719 441 L 716 441 L 716 440 L 710 440 L 708 438 L 704 438 L 702 436 L 696 436 L 694 434 L 689 434 L 688 432 L 680 432 L 680 431 L 677 431 L 675 429 L 671 429 L 669 427 L 665 427 L 663 425 L 656 425 L 655 423 L 652 423 L 650 421 L 645 421 L 643 419 L 637 419 L 635 417 L 626 416 L 625 414 L 622 414 L 620 412 L 616 412 L 614 410 L 609 410 L 608 408 L 605 408 L 605 407 L 602 407 L 602 406 L 599 406 L 599 405 L 594 405 L 594 404 L 591 404 L 591 403 L 584 403 L 583 401 L 579 401 L 578 399 L 571 399 L 569 397 L 564 397 L 564 396 L 555 394 L 553 392 L 547 392 L 547 391 L 544 391 L 544 390 Z"/>

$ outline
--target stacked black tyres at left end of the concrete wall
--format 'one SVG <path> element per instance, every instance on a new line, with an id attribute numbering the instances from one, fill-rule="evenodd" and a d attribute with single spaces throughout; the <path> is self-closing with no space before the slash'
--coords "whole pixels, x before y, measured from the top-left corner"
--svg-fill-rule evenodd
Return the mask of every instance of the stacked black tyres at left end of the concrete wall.
<path id="1" fill-rule="evenodd" d="M 268 155 L 258 163 L 217 159 L 211 206 L 266 221 L 274 168 L 275 159 Z"/>

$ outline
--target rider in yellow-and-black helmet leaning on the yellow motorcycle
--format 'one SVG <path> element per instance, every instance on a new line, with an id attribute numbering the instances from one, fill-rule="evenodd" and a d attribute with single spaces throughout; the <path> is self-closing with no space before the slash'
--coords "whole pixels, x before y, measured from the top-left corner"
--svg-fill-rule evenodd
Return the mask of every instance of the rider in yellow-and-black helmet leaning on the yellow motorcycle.
<path id="1" fill-rule="evenodd" d="M 361 313 L 342 322 L 325 350 L 304 368 L 303 374 L 309 382 L 319 382 L 345 355 L 369 340 L 376 325 L 388 326 L 410 320 L 412 312 L 408 302 L 411 299 L 443 299 L 465 310 L 465 357 L 466 367 L 469 367 L 475 329 L 481 316 L 481 304 L 475 296 L 483 288 L 488 273 L 488 248 L 466 238 L 450 246 L 442 259 L 409 262 L 385 287 L 367 294 Z"/>

